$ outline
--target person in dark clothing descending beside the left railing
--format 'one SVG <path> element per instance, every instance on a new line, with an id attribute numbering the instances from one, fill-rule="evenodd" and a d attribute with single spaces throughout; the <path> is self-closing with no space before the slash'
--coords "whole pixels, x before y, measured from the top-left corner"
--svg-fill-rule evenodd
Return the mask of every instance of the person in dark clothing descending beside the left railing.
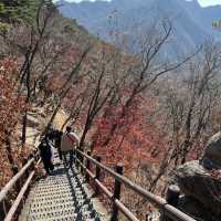
<path id="1" fill-rule="evenodd" d="M 51 172 L 54 169 L 53 165 L 53 147 L 50 144 L 48 135 L 42 139 L 42 141 L 39 145 L 40 156 L 42 159 L 42 162 L 44 165 L 44 169 L 48 175 L 51 175 Z"/>

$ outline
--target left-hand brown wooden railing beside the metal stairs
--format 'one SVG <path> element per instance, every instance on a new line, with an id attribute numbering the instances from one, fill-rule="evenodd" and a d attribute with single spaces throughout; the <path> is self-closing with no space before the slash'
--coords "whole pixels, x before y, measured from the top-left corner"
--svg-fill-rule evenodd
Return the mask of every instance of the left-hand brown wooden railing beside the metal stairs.
<path id="1" fill-rule="evenodd" d="M 35 151 L 33 155 L 30 155 L 29 158 L 24 159 L 23 167 L 20 171 L 18 170 L 18 166 L 13 166 L 14 176 L 0 191 L 0 220 L 10 221 L 13 219 L 25 192 L 28 191 L 30 182 L 34 177 L 35 162 L 38 166 L 40 161 L 41 159 L 39 154 Z M 7 199 L 7 196 L 11 190 L 19 192 L 12 204 L 9 202 L 9 199 Z"/>

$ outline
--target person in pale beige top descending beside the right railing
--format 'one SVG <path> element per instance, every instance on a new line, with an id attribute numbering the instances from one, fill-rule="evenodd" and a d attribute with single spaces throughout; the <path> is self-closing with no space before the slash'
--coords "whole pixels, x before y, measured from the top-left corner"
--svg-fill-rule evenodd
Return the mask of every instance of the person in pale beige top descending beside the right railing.
<path id="1" fill-rule="evenodd" d="M 66 131 L 62 136 L 61 152 L 64 156 L 64 162 L 66 164 L 66 156 L 70 155 L 70 167 L 73 166 L 74 148 L 80 144 L 78 136 L 72 131 L 72 127 L 67 126 Z"/>

